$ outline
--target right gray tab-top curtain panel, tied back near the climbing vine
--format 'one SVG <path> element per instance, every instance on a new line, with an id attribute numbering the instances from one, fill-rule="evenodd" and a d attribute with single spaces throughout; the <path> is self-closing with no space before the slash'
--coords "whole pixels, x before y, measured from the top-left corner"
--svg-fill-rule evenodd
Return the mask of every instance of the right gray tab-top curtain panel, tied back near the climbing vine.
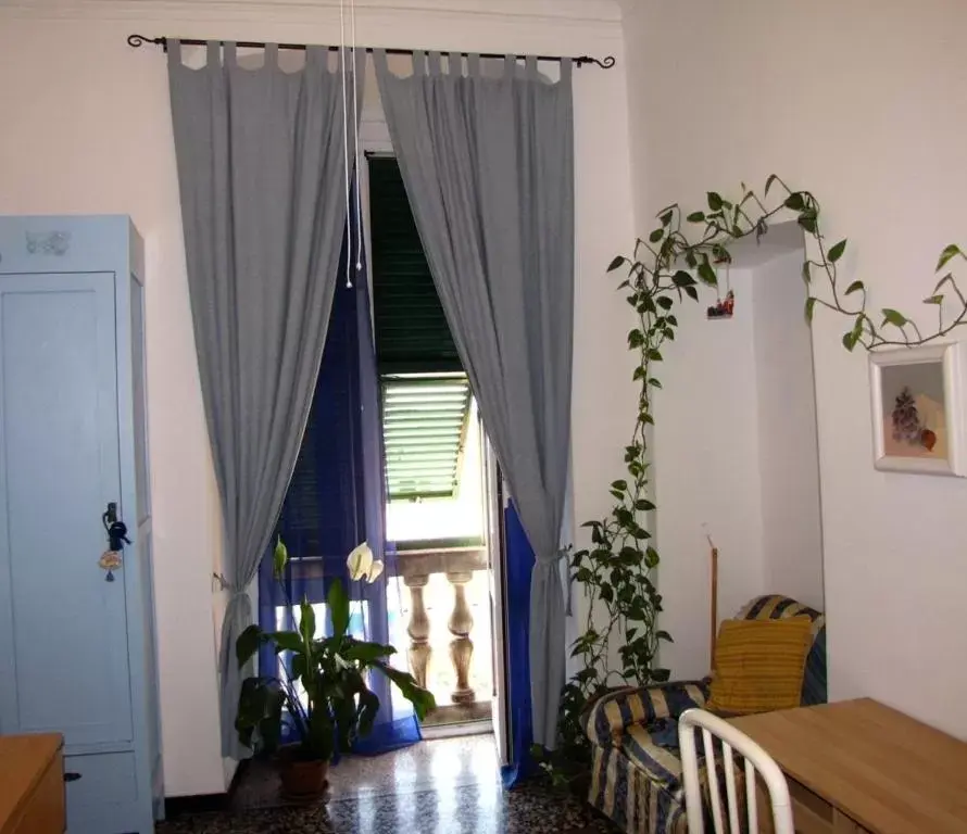
<path id="1" fill-rule="evenodd" d="M 530 598 L 535 741 L 553 747 L 565 674 L 560 536 L 574 331 L 572 65 L 417 53 L 376 77 L 447 320 L 537 564 Z"/>

